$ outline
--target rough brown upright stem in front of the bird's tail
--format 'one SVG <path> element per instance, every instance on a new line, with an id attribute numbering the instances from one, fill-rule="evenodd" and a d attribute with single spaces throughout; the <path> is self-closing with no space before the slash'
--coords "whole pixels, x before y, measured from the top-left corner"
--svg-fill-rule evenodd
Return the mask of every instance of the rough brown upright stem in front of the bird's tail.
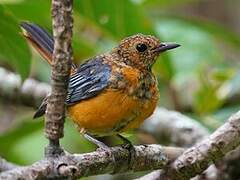
<path id="1" fill-rule="evenodd" d="M 60 154 L 59 139 L 63 137 L 65 99 L 72 64 L 72 0 L 52 0 L 54 50 L 52 62 L 52 92 L 48 98 L 45 135 L 49 146 L 45 155 Z"/>

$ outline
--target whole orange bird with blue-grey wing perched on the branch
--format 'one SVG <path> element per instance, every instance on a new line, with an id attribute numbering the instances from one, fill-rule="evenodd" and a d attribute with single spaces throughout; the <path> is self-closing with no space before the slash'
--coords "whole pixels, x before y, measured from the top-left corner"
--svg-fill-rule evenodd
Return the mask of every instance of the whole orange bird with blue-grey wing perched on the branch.
<path id="1" fill-rule="evenodd" d="M 27 41 L 51 64 L 52 36 L 36 24 L 23 22 L 21 28 Z M 67 115 L 95 143 L 91 136 L 118 135 L 138 128 L 159 99 L 152 66 L 161 53 L 176 47 L 179 45 L 162 43 L 154 36 L 136 34 L 78 68 L 72 65 Z M 45 113 L 46 105 L 47 98 L 34 118 Z"/>

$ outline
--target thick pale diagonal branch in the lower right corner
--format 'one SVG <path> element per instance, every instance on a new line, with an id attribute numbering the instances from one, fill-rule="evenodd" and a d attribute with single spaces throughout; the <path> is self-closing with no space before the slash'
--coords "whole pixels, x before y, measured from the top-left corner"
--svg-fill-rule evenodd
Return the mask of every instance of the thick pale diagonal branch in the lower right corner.
<path id="1" fill-rule="evenodd" d="M 190 179 L 201 174 L 209 164 L 222 159 L 240 144 L 240 111 L 208 138 L 187 149 L 163 176 L 166 179 Z"/>

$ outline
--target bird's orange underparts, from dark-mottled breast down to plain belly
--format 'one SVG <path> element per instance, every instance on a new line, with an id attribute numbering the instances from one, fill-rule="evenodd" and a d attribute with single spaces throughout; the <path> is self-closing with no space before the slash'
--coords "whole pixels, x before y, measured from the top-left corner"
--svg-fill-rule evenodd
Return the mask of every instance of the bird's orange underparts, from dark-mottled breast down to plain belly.
<path id="1" fill-rule="evenodd" d="M 108 86 L 98 95 L 68 107 L 73 121 L 97 136 L 139 127 L 158 101 L 156 79 L 151 72 L 114 61 L 104 63 L 111 67 Z"/>

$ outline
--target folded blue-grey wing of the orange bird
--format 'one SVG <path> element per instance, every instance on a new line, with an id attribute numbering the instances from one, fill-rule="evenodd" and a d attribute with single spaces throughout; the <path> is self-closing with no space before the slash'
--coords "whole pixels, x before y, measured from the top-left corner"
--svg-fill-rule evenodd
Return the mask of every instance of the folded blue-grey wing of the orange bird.
<path id="1" fill-rule="evenodd" d="M 111 67 L 101 58 L 92 59 L 82 64 L 69 79 L 67 105 L 99 94 L 109 84 Z"/>

